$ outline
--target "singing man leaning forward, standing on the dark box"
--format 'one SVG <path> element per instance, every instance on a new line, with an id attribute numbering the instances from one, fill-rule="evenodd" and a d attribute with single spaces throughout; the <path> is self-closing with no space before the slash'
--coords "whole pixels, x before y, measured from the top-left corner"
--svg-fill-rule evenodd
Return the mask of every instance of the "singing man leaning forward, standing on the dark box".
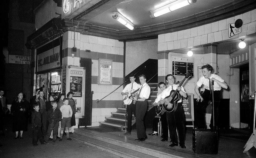
<path id="1" fill-rule="evenodd" d="M 216 75 L 212 74 L 213 68 L 211 65 L 206 64 L 202 66 L 202 76 L 197 82 L 195 87 L 195 92 L 198 95 L 197 98 L 197 106 L 195 111 L 195 127 L 197 128 L 205 128 L 205 117 L 204 117 L 204 109 L 207 107 L 209 100 L 212 101 L 212 82 L 213 84 L 213 95 L 214 95 L 214 123 L 215 126 L 218 124 L 218 115 L 219 115 L 219 104 L 220 104 L 220 90 L 221 88 L 227 89 L 228 86 L 224 82 L 224 80 Z M 199 87 L 204 85 L 204 93 L 201 95 L 199 93 Z M 213 115 L 211 118 L 210 128 L 213 129 Z"/>

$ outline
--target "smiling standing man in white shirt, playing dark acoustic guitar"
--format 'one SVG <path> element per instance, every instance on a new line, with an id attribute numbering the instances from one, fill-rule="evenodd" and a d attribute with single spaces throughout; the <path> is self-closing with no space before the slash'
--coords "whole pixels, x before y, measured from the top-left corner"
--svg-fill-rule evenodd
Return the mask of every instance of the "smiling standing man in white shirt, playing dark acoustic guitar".
<path id="1" fill-rule="evenodd" d="M 185 92 L 184 88 L 178 87 L 179 85 L 174 84 L 174 76 L 171 74 L 166 75 L 165 77 L 166 81 L 168 82 L 169 87 L 166 88 L 162 92 L 161 101 L 160 104 L 169 103 L 169 99 L 165 98 L 170 95 L 170 92 L 172 90 L 178 89 L 179 93 L 184 97 L 187 98 L 187 93 Z M 169 132 L 172 144 L 169 145 L 169 147 L 178 146 L 178 136 L 176 132 L 176 127 L 179 132 L 179 139 L 180 139 L 180 147 L 186 148 L 185 146 L 185 114 L 181 103 L 182 99 L 177 102 L 177 109 L 176 111 L 167 112 L 166 111 L 166 117 L 167 117 L 167 123 L 169 126 Z"/>

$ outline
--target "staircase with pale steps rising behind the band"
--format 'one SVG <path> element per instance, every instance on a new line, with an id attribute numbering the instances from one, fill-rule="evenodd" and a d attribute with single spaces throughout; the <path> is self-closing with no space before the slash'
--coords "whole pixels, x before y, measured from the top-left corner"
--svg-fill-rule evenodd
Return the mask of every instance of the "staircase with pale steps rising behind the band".
<path id="1" fill-rule="evenodd" d="M 157 83 L 148 83 L 151 92 L 157 87 Z M 154 105 L 153 102 L 156 100 L 157 89 L 153 91 L 148 98 L 148 110 L 149 111 Z M 129 105 L 127 105 L 129 106 Z M 104 122 L 100 122 L 100 126 L 110 127 L 110 128 L 117 128 L 120 131 L 125 130 L 125 119 L 126 119 L 126 109 L 125 105 L 124 108 L 117 108 L 117 112 L 112 112 L 111 117 L 105 117 L 106 120 Z M 135 117 L 132 114 L 132 129 L 135 129 Z"/>

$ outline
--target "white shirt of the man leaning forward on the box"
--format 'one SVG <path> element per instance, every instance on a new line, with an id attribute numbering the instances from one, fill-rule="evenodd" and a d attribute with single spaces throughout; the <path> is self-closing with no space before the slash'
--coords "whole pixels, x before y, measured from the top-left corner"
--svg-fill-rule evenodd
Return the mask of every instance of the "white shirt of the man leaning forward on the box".
<path id="1" fill-rule="evenodd" d="M 211 78 L 217 79 L 220 82 L 224 82 L 224 80 L 221 79 L 221 77 L 216 75 L 216 74 L 211 74 L 210 79 Z M 198 87 L 201 87 L 202 85 L 204 85 L 205 89 L 210 90 L 210 88 L 209 88 L 209 79 L 205 79 L 204 76 L 200 77 L 200 79 L 196 82 L 196 85 Z M 217 82 L 214 82 L 213 90 L 214 91 L 220 91 L 221 90 L 221 87 L 220 87 L 220 85 Z"/>

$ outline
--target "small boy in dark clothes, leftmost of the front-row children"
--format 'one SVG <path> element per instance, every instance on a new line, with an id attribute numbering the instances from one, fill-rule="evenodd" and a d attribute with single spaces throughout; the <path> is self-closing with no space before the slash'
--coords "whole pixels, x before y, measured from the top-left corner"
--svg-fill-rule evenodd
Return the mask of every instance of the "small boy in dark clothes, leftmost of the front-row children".
<path id="1" fill-rule="evenodd" d="M 32 112 L 32 116 L 31 116 L 31 118 L 32 118 L 32 121 L 31 121 L 32 122 L 32 128 L 33 128 L 32 144 L 33 144 L 33 146 L 38 146 L 37 145 L 38 138 L 39 138 L 39 141 L 40 141 L 41 144 L 48 144 L 43 139 L 43 133 L 42 133 L 42 130 L 41 130 L 42 121 L 41 121 L 41 113 L 39 112 L 39 105 L 34 104 L 33 109 L 35 111 Z"/>

